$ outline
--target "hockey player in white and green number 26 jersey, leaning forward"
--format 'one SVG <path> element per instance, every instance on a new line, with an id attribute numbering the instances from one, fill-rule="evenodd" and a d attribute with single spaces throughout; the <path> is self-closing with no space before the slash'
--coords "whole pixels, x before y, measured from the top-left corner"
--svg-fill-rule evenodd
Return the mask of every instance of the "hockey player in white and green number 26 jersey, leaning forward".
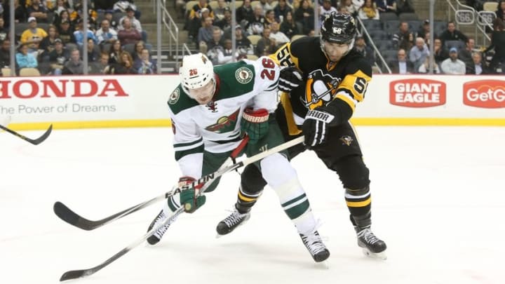
<path id="1" fill-rule="evenodd" d="M 277 105 L 278 74 L 279 67 L 267 57 L 216 67 L 202 53 L 183 58 L 181 83 L 168 98 L 175 160 L 182 171 L 180 185 L 214 173 L 238 147 L 244 134 L 250 139 L 243 149 L 247 156 L 284 143 L 274 116 L 270 116 Z M 316 219 L 297 173 L 288 161 L 287 151 L 271 154 L 255 165 L 276 191 L 283 210 L 295 224 L 314 261 L 327 259 L 330 252 L 316 231 Z M 219 178 L 206 192 L 213 191 L 218 183 Z M 195 189 L 168 198 L 148 230 L 170 217 L 181 205 L 186 212 L 194 212 L 203 205 L 206 196 L 198 196 L 196 192 L 202 186 L 198 184 Z M 254 201 L 258 197 L 247 196 Z M 235 208 L 222 222 L 225 225 L 222 229 L 234 229 L 249 217 L 249 213 L 240 214 Z M 148 243 L 158 243 L 168 226 L 170 222 L 150 236 Z"/>

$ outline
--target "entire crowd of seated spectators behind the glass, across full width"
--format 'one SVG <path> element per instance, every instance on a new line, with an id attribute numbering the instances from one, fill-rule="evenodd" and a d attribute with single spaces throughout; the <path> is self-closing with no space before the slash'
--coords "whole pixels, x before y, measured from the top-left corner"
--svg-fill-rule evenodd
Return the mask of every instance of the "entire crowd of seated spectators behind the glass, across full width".
<path id="1" fill-rule="evenodd" d="M 2 3 L 3 1 L 3 3 Z M 37 68 L 41 74 L 83 74 L 83 46 L 89 74 L 153 74 L 152 46 L 133 0 L 86 0 L 87 42 L 84 42 L 83 0 L 15 0 L 18 46 L 15 70 Z M 494 74 L 505 72 L 505 1 L 496 1 L 490 46 L 476 46 L 454 22 L 420 20 L 412 0 L 243 0 L 236 1 L 236 28 L 231 30 L 227 0 L 175 0 L 170 13 L 184 19 L 189 43 L 214 64 L 269 55 L 299 36 L 314 36 L 314 27 L 332 11 L 362 22 L 354 48 L 371 65 L 393 73 Z M 462 0 L 464 1 L 464 0 Z M 466 1 L 479 7 L 481 1 Z M 0 0 L 0 64 L 10 65 L 8 1 Z M 489 7 L 489 5 L 480 5 Z M 319 15 L 315 19 L 315 15 Z M 316 21 L 315 21 L 316 20 Z M 232 51 L 231 33 L 236 36 Z M 433 34 L 435 65 L 430 66 Z M 491 58 L 492 57 L 492 58 Z M 487 58 L 491 58 L 487 60 Z M 382 60 L 384 59 L 384 61 Z M 385 65 L 384 63 L 385 62 Z"/>

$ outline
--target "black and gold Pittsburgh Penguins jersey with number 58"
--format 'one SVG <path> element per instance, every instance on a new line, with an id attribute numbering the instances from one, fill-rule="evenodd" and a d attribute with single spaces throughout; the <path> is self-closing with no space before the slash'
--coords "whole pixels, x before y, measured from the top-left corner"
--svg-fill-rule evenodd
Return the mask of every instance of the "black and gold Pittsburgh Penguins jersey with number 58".
<path id="1" fill-rule="evenodd" d="M 342 100 L 354 112 L 356 104 L 363 101 L 368 82 L 372 79 L 372 67 L 363 56 L 352 49 L 334 64 L 321 50 L 319 37 L 305 36 L 286 43 L 271 55 L 278 65 L 295 66 L 304 74 L 306 85 L 300 85 L 291 93 L 283 94 L 281 102 L 286 112 L 292 111 L 304 118 L 309 109 Z M 333 88 L 332 86 L 337 86 Z M 332 89 L 333 88 L 333 89 Z M 290 123 L 292 118 L 286 117 Z M 298 132 L 290 128 L 290 133 Z"/>

